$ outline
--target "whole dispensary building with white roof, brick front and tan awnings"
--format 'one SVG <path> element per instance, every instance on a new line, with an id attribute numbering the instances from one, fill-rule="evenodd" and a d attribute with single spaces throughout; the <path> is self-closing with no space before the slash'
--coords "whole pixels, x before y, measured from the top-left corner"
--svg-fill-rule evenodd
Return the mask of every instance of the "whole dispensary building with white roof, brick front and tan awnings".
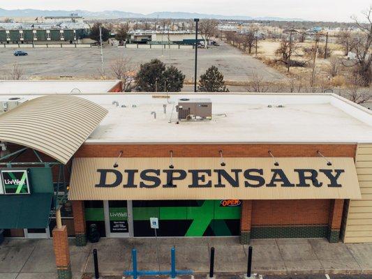
<path id="1" fill-rule="evenodd" d="M 0 211 L 6 236 L 52 236 L 61 204 L 64 233 L 80 246 L 93 224 L 102 237 L 154 236 L 150 218 L 158 236 L 372 241 L 372 114 L 344 98 L 19 98 L 27 101 L 0 116 L 0 198 L 47 198 L 35 223 L 27 211 Z"/>

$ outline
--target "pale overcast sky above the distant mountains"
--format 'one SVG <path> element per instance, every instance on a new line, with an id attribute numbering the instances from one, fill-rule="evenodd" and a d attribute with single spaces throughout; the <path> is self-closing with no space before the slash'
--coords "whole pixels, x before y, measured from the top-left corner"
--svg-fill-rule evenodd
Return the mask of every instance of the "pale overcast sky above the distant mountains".
<path id="1" fill-rule="evenodd" d="M 366 10 L 372 0 L 0 0 L 0 8 L 43 10 L 123 10 L 133 13 L 158 11 L 299 17 L 304 20 L 346 21 Z"/>

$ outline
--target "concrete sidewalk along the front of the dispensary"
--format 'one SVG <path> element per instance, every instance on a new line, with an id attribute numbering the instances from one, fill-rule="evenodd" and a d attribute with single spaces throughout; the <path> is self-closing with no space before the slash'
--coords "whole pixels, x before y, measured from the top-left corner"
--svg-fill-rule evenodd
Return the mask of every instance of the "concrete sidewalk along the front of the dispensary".
<path id="1" fill-rule="evenodd" d="M 170 269 L 170 248 L 176 248 L 177 269 L 209 271 L 209 251 L 216 250 L 216 273 L 246 271 L 247 246 L 237 237 L 158 239 L 162 270 Z M 253 271 L 268 274 L 372 274 L 372 243 L 329 243 L 325 239 L 254 239 Z M 93 273 L 92 250 L 98 250 L 100 273 L 121 276 L 131 269 L 131 249 L 137 249 L 138 269 L 157 270 L 155 239 L 101 239 L 79 248 L 70 241 L 74 278 Z M 57 278 L 52 240 L 6 240 L 0 246 L 1 279 Z"/>

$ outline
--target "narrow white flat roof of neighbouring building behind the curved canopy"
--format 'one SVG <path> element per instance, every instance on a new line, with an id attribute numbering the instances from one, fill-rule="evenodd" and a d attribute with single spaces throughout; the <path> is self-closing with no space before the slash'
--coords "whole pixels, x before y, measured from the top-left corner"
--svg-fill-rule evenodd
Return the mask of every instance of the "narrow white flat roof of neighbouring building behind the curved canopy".
<path id="1" fill-rule="evenodd" d="M 108 92 L 119 80 L 0 80 L 3 94 L 58 94 Z"/>

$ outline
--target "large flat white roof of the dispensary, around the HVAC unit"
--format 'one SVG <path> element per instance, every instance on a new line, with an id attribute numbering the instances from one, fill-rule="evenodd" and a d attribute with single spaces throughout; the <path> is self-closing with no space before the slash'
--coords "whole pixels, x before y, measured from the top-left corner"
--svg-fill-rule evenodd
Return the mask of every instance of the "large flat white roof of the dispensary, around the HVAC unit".
<path id="1" fill-rule="evenodd" d="M 165 93 L 76 96 L 109 110 L 87 144 L 372 142 L 372 112 L 331 93 L 172 93 L 169 99 Z M 212 119 L 177 124 L 174 105 L 179 98 L 210 98 Z"/>

